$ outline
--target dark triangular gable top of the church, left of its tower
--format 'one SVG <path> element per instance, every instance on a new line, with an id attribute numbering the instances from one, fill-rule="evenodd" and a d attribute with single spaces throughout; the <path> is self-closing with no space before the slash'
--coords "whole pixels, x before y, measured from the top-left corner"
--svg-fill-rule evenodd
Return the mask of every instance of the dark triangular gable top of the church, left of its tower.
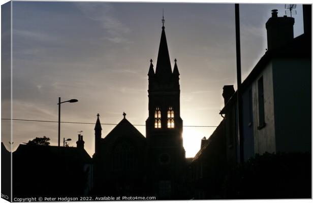
<path id="1" fill-rule="evenodd" d="M 125 117 L 112 129 L 107 136 L 104 138 L 104 141 L 117 138 L 117 137 L 133 137 L 145 139 L 145 137 L 131 124 Z"/>

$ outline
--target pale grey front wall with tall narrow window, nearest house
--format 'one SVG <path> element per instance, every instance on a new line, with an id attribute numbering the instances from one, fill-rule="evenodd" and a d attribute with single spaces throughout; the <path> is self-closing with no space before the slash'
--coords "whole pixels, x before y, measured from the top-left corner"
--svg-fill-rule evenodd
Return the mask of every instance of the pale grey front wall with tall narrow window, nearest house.
<path id="1" fill-rule="evenodd" d="M 258 103 L 258 80 L 263 76 L 264 83 L 264 106 L 266 125 L 258 129 L 259 126 L 259 103 Z M 274 123 L 274 93 L 272 64 L 269 62 L 262 73 L 251 85 L 253 91 L 253 130 L 254 130 L 254 151 L 255 154 L 265 152 L 275 152 L 275 123 Z"/>

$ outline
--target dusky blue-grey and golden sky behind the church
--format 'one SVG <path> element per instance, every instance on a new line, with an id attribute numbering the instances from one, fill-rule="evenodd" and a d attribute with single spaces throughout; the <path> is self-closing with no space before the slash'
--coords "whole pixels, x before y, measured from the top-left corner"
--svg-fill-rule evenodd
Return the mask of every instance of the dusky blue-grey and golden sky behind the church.
<path id="1" fill-rule="evenodd" d="M 223 86 L 237 88 L 234 4 L 13 2 L 13 118 L 57 121 L 60 96 L 79 100 L 61 105 L 61 121 L 95 123 L 99 113 L 101 123 L 115 124 L 125 112 L 132 124 L 144 125 L 149 60 L 155 67 L 163 9 L 171 63 L 177 59 L 180 73 L 183 125 L 217 126 Z M 240 5 L 242 80 L 266 51 L 272 9 L 285 15 L 285 5 Z M 302 6 L 296 11 L 295 37 L 303 33 Z M 135 127 L 145 136 L 145 126 Z M 102 128 L 104 138 L 114 125 Z M 13 150 L 43 136 L 57 145 L 57 129 L 57 123 L 13 121 Z M 62 123 L 61 140 L 76 146 L 83 130 L 92 155 L 93 129 Z M 214 129 L 184 127 L 186 157 L 195 156 Z"/>

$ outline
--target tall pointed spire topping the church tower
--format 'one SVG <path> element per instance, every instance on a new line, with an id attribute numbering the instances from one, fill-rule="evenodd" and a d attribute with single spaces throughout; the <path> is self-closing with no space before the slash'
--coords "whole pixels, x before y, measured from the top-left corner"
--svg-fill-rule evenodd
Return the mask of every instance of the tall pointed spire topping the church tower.
<path id="1" fill-rule="evenodd" d="M 160 40 L 159 54 L 157 54 L 155 75 L 159 80 L 168 80 L 169 77 L 172 75 L 172 67 L 169 50 L 166 42 L 164 12 L 162 23 L 163 27 Z"/>

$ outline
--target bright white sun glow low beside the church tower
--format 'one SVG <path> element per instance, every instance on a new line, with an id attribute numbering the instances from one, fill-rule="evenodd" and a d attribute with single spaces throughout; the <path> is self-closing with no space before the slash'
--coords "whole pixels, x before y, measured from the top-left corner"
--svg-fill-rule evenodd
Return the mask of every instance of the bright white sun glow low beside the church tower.
<path id="1" fill-rule="evenodd" d="M 183 146 L 186 157 L 194 157 L 200 150 L 201 139 L 206 135 L 192 127 L 183 128 Z"/>

